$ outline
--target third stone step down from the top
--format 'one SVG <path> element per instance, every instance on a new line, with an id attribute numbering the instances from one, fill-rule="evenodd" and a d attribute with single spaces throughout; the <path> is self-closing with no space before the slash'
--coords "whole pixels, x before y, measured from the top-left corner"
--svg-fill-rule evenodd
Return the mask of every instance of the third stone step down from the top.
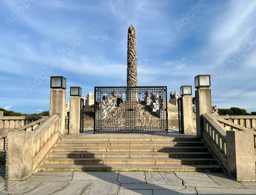
<path id="1" fill-rule="evenodd" d="M 199 147 L 199 146 L 108 146 L 108 147 L 100 147 L 100 146 L 57 146 L 53 148 L 53 151 L 207 151 L 207 147 Z"/>

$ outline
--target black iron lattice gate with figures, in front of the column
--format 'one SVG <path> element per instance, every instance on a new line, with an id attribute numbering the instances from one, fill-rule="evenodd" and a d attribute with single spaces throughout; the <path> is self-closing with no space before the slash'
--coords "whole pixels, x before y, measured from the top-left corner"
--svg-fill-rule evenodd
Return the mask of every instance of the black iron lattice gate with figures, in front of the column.
<path id="1" fill-rule="evenodd" d="M 94 133 L 168 133 L 167 87 L 95 87 Z"/>

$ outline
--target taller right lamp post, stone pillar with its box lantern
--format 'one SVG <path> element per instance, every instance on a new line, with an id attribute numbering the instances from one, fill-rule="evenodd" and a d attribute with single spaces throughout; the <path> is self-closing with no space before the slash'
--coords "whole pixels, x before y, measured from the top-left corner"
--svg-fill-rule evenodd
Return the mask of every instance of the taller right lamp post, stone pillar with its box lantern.
<path id="1" fill-rule="evenodd" d="M 202 137 L 203 121 L 202 114 L 211 114 L 211 90 L 210 75 L 197 75 L 195 77 L 196 90 L 196 117 L 197 137 Z"/>

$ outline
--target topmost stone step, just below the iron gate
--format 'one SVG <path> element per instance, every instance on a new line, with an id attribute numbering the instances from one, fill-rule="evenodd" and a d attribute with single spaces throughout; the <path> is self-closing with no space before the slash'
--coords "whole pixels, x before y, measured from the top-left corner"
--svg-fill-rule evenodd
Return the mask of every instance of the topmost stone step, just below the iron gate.
<path id="1" fill-rule="evenodd" d="M 165 135 L 165 134 L 163 134 Z M 100 136 L 100 134 L 99 134 Z M 87 137 L 87 138 L 72 138 L 64 137 L 61 138 L 61 141 L 200 141 L 200 138 L 197 137 Z"/>

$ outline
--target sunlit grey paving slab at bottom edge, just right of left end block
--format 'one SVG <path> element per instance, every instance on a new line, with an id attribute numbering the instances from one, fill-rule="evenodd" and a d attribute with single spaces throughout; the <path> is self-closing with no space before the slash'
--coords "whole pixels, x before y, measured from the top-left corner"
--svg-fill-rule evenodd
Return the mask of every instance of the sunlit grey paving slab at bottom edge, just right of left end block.
<path id="1" fill-rule="evenodd" d="M 36 188 L 24 193 L 25 195 L 49 195 L 65 186 L 68 182 L 42 182 Z"/>

